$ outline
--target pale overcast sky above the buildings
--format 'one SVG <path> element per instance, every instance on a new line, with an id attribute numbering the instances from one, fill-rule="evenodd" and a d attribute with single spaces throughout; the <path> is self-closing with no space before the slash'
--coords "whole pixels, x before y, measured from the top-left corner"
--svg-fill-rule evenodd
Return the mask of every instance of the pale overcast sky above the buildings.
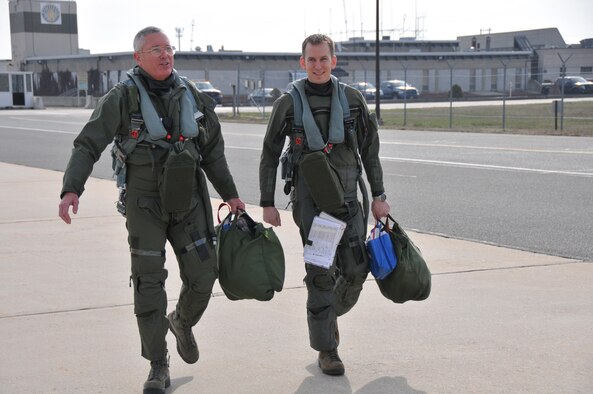
<path id="1" fill-rule="evenodd" d="M 26 1 L 26 0 L 21 0 Z M 51 0 L 47 0 L 51 2 Z M 188 51 L 300 52 L 325 33 L 375 39 L 373 0 L 78 0 L 79 47 L 127 52 L 143 27 L 162 28 Z M 557 27 L 568 44 L 593 38 L 591 0 L 380 0 L 381 36 L 455 40 L 457 36 Z M 180 34 L 178 34 L 178 31 Z M 0 59 L 10 59 L 8 0 L 0 0 Z"/>

